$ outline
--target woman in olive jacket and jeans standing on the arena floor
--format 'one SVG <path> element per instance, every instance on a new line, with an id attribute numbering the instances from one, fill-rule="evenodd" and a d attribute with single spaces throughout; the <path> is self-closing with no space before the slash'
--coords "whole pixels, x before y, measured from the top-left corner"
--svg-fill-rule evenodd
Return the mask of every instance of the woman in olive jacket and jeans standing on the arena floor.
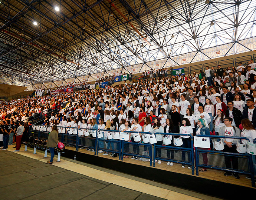
<path id="1" fill-rule="evenodd" d="M 52 131 L 49 133 L 48 140 L 46 146 L 49 147 L 51 152 L 51 159 L 46 162 L 46 164 L 52 164 L 54 158 L 54 148 L 59 143 L 58 137 L 58 127 L 56 125 L 52 126 Z"/>

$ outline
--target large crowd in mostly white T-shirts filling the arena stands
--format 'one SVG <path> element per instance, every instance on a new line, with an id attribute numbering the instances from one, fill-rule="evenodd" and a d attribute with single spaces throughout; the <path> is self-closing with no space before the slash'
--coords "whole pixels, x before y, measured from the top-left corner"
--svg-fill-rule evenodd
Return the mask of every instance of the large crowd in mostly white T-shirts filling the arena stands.
<path id="1" fill-rule="evenodd" d="M 134 143 L 143 141 L 143 134 L 140 134 L 140 131 L 150 134 L 160 132 L 191 136 L 216 134 L 223 136 L 224 152 L 238 153 L 237 140 L 225 137 L 243 136 L 252 143 L 256 139 L 255 70 L 256 64 L 253 60 L 248 61 L 246 66 L 239 63 L 237 67 L 226 69 L 220 65 L 217 69 L 206 67 L 205 71 L 200 70 L 198 74 L 193 72 L 187 76 L 170 76 L 168 70 L 167 73 L 158 74 L 153 70 L 152 76 L 145 76 L 145 79 L 140 81 L 124 81 L 124 84 L 115 87 L 105 86 L 101 89 L 86 89 L 70 94 L 47 94 L 43 97 L 2 101 L 2 150 L 8 148 L 7 140 L 9 144 L 13 141 L 16 129 L 10 128 L 10 124 L 17 126 L 18 121 L 28 123 L 33 121 L 37 114 L 42 113 L 45 116 L 44 124 L 50 126 L 135 131 L 139 133 L 141 141 L 135 141 L 135 134 L 129 134 L 129 141 Z M 105 80 L 108 80 L 108 77 Z M 67 102 L 75 104 L 63 109 L 63 104 Z M 51 112 L 55 109 L 58 109 L 57 113 Z M 239 128 L 240 124 L 243 126 L 242 130 Z M 104 131 L 102 139 L 114 140 L 109 139 L 108 134 L 108 131 Z M 167 136 L 156 134 L 155 137 L 156 144 L 164 145 L 163 140 Z M 173 137 L 172 139 L 174 140 Z M 183 135 L 181 139 L 181 147 L 191 148 L 189 135 Z M 107 149 L 110 148 L 110 144 L 108 143 Z M 99 145 L 102 147 L 104 143 L 100 142 Z M 82 146 L 83 141 L 83 149 Z M 174 146 L 174 143 L 167 146 Z M 86 150 L 94 151 L 93 148 Z M 139 151 L 134 147 L 134 152 L 139 154 Z M 99 153 L 110 154 L 102 150 L 99 150 Z M 161 150 L 158 150 L 157 154 L 161 157 Z M 115 157 L 116 154 L 110 156 Z M 167 151 L 167 157 L 173 159 L 174 151 Z M 137 160 L 139 157 L 133 156 L 131 159 Z M 182 153 L 182 160 L 186 160 L 185 152 Z M 205 156 L 204 161 L 207 162 Z M 161 160 L 157 162 L 161 164 Z M 226 167 L 231 169 L 230 162 L 230 158 L 225 157 Z M 167 163 L 169 166 L 173 164 Z M 185 165 L 181 167 L 185 168 Z M 232 159 L 232 167 L 238 169 L 236 159 Z M 188 168 L 191 169 L 191 166 Z M 206 168 L 200 171 L 206 171 Z M 224 175 L 230 176 L 232 173 L 227 171 Z M 239 179 L 237 173 L 233 173 L 233 176 Z"/>

